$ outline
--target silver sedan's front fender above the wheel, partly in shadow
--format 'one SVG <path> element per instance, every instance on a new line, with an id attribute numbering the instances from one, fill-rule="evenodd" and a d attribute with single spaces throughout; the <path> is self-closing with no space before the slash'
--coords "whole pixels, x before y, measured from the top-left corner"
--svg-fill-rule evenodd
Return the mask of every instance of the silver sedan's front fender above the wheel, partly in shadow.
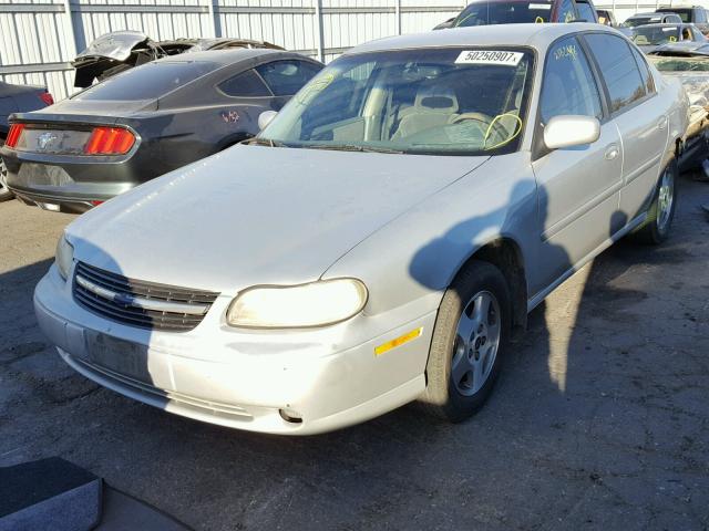
<path id="1" fill-rule="evenodd" d="M 366 313 L 412 304 L 424 314 L 438 309 L 443 292 L 475 251 L 508 238 L 518 244 L 526 263 L 538 233 L 530 154 L 503 155 L 371 235 L 322 278 L 362 280 L 369 289 Z"/>

